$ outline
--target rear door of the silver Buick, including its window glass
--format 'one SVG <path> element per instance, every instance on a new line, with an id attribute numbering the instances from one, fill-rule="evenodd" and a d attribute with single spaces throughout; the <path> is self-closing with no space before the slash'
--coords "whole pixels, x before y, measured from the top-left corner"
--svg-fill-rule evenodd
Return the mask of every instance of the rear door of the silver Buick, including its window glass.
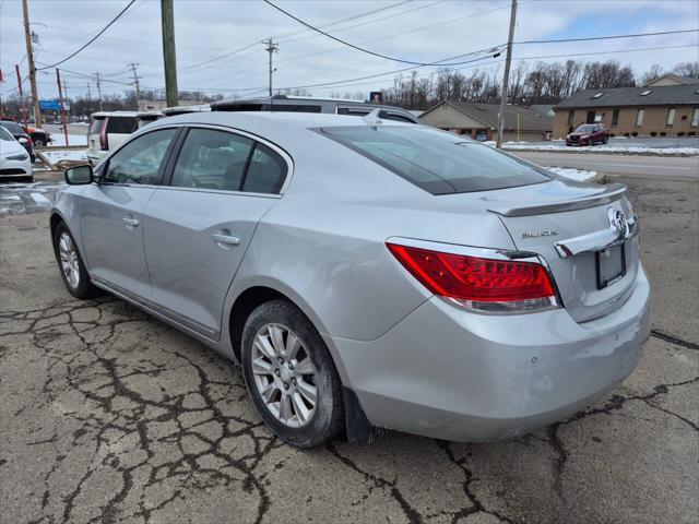
<path id="1" fill-rule="evenodd" d="M 226 291 L 288 175 L 283 155 L 237 132 L 189 129 L 145 210 L 152 300 L 173 320 L 218 340 Z"/>

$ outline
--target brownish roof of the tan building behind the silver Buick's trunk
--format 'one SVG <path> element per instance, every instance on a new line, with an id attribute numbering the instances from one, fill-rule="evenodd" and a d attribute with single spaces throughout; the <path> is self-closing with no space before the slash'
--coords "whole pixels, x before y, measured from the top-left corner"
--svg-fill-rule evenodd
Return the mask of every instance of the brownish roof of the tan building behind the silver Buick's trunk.
<path id="1" fill-rule="evenodd" d="M 498 128 L 498 114 L 500 112 L 499 104 L 479 104 L 475 102 L 455 102 L 446 100 L 426 110 L 420 118 L 425 117 L 435 108 L 447 104 L 455 110 L 467 115 L 469 117 L 482 122 L 484 127 L 490 129 Z M 505 129 L 514 130 L 518 126 L 517 116 L 519 115 L 519 128 L 521 131 L 552 131 L 554 128 L 554 118 L 552 116 L 540 112 L 529 106 L 514 106 L 508 104 L 505 110 Z"/>

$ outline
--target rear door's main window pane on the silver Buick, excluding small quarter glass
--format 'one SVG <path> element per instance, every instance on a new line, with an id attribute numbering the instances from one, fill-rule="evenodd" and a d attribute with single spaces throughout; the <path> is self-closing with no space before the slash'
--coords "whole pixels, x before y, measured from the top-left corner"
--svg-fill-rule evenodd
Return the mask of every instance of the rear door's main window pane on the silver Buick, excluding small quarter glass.
<path id="1" fill-rule="evenodd" d="M 170 186 L 239 191 L 254 141 L 213 129 L 191 129 Z"/>

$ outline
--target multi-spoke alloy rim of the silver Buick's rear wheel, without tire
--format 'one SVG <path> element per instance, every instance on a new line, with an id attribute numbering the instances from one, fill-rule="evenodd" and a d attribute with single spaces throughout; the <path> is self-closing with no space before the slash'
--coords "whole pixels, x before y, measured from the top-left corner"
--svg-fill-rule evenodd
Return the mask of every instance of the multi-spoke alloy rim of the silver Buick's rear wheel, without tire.
<path id="1" fill-rule="evenodd" d="M 254 386 L 269 412 L 289 428 L 310 422 L 318 403 L 316 367 L 298 336 L 282 324 L 264 324 L 251 357 Z"/>

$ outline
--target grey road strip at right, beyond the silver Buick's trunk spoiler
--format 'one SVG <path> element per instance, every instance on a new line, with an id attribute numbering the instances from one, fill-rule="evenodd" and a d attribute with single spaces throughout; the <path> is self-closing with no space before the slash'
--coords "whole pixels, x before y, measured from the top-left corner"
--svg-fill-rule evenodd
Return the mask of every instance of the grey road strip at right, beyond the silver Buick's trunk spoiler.
<path id="1" fill-rule="evenodd" d="M 603 155 L 510 151 L 541 166 L 574 167 L 611 175 L 663 180 L 699 180 L 699 156 Z"/>

